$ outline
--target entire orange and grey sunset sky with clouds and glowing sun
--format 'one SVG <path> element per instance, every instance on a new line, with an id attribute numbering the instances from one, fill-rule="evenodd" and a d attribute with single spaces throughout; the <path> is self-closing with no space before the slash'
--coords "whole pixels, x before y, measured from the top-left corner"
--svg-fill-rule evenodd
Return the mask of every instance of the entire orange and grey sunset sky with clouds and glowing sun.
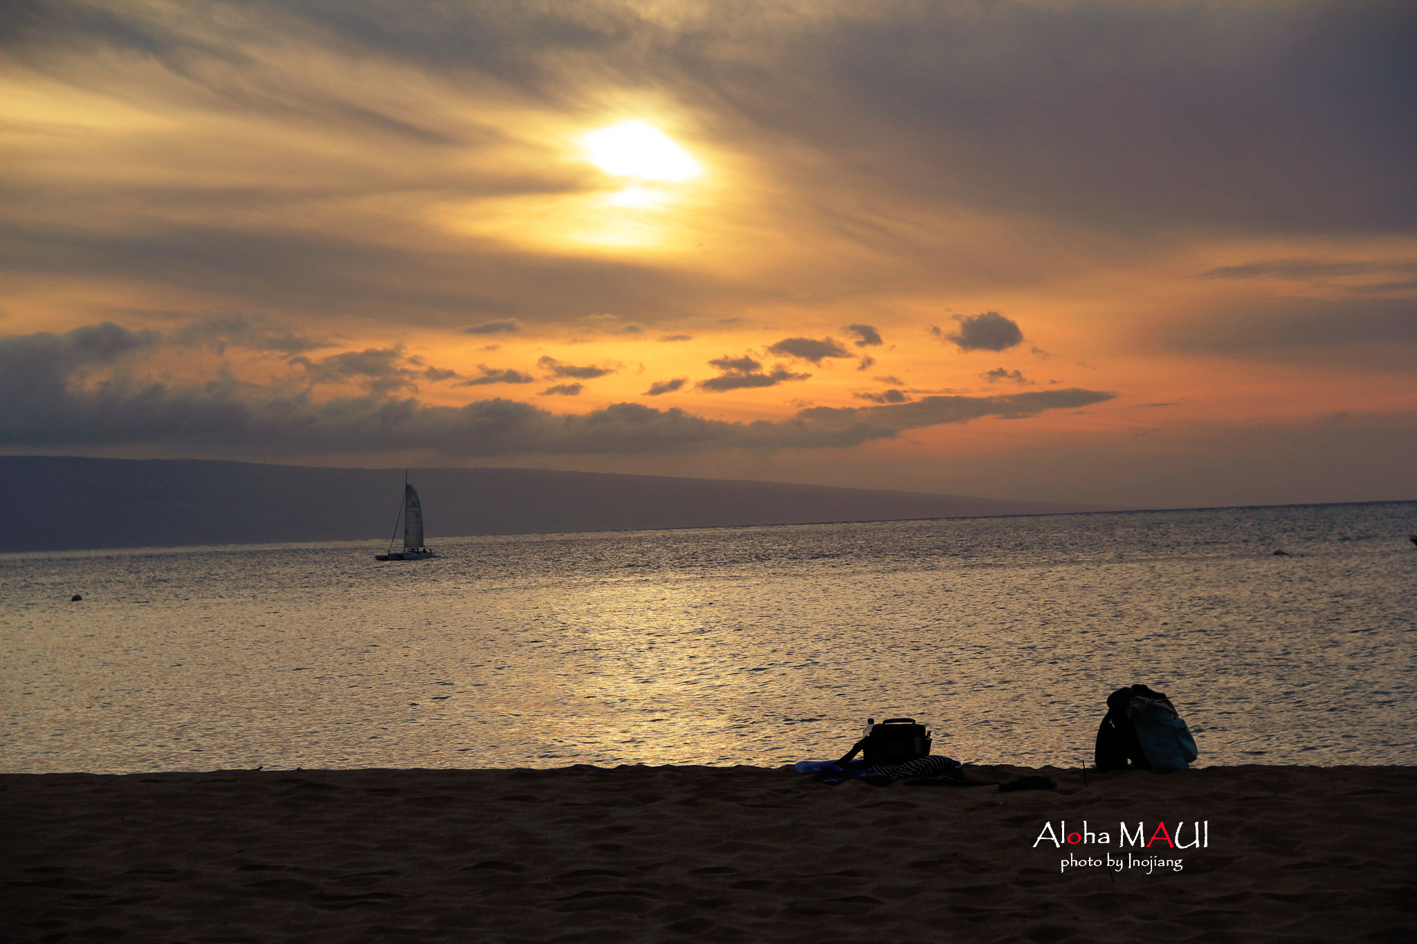
<path id="1" fill-rule="evenodd" d="M 0 454 L 1417 497 L 1417 6 L 0 20 Z"/>

